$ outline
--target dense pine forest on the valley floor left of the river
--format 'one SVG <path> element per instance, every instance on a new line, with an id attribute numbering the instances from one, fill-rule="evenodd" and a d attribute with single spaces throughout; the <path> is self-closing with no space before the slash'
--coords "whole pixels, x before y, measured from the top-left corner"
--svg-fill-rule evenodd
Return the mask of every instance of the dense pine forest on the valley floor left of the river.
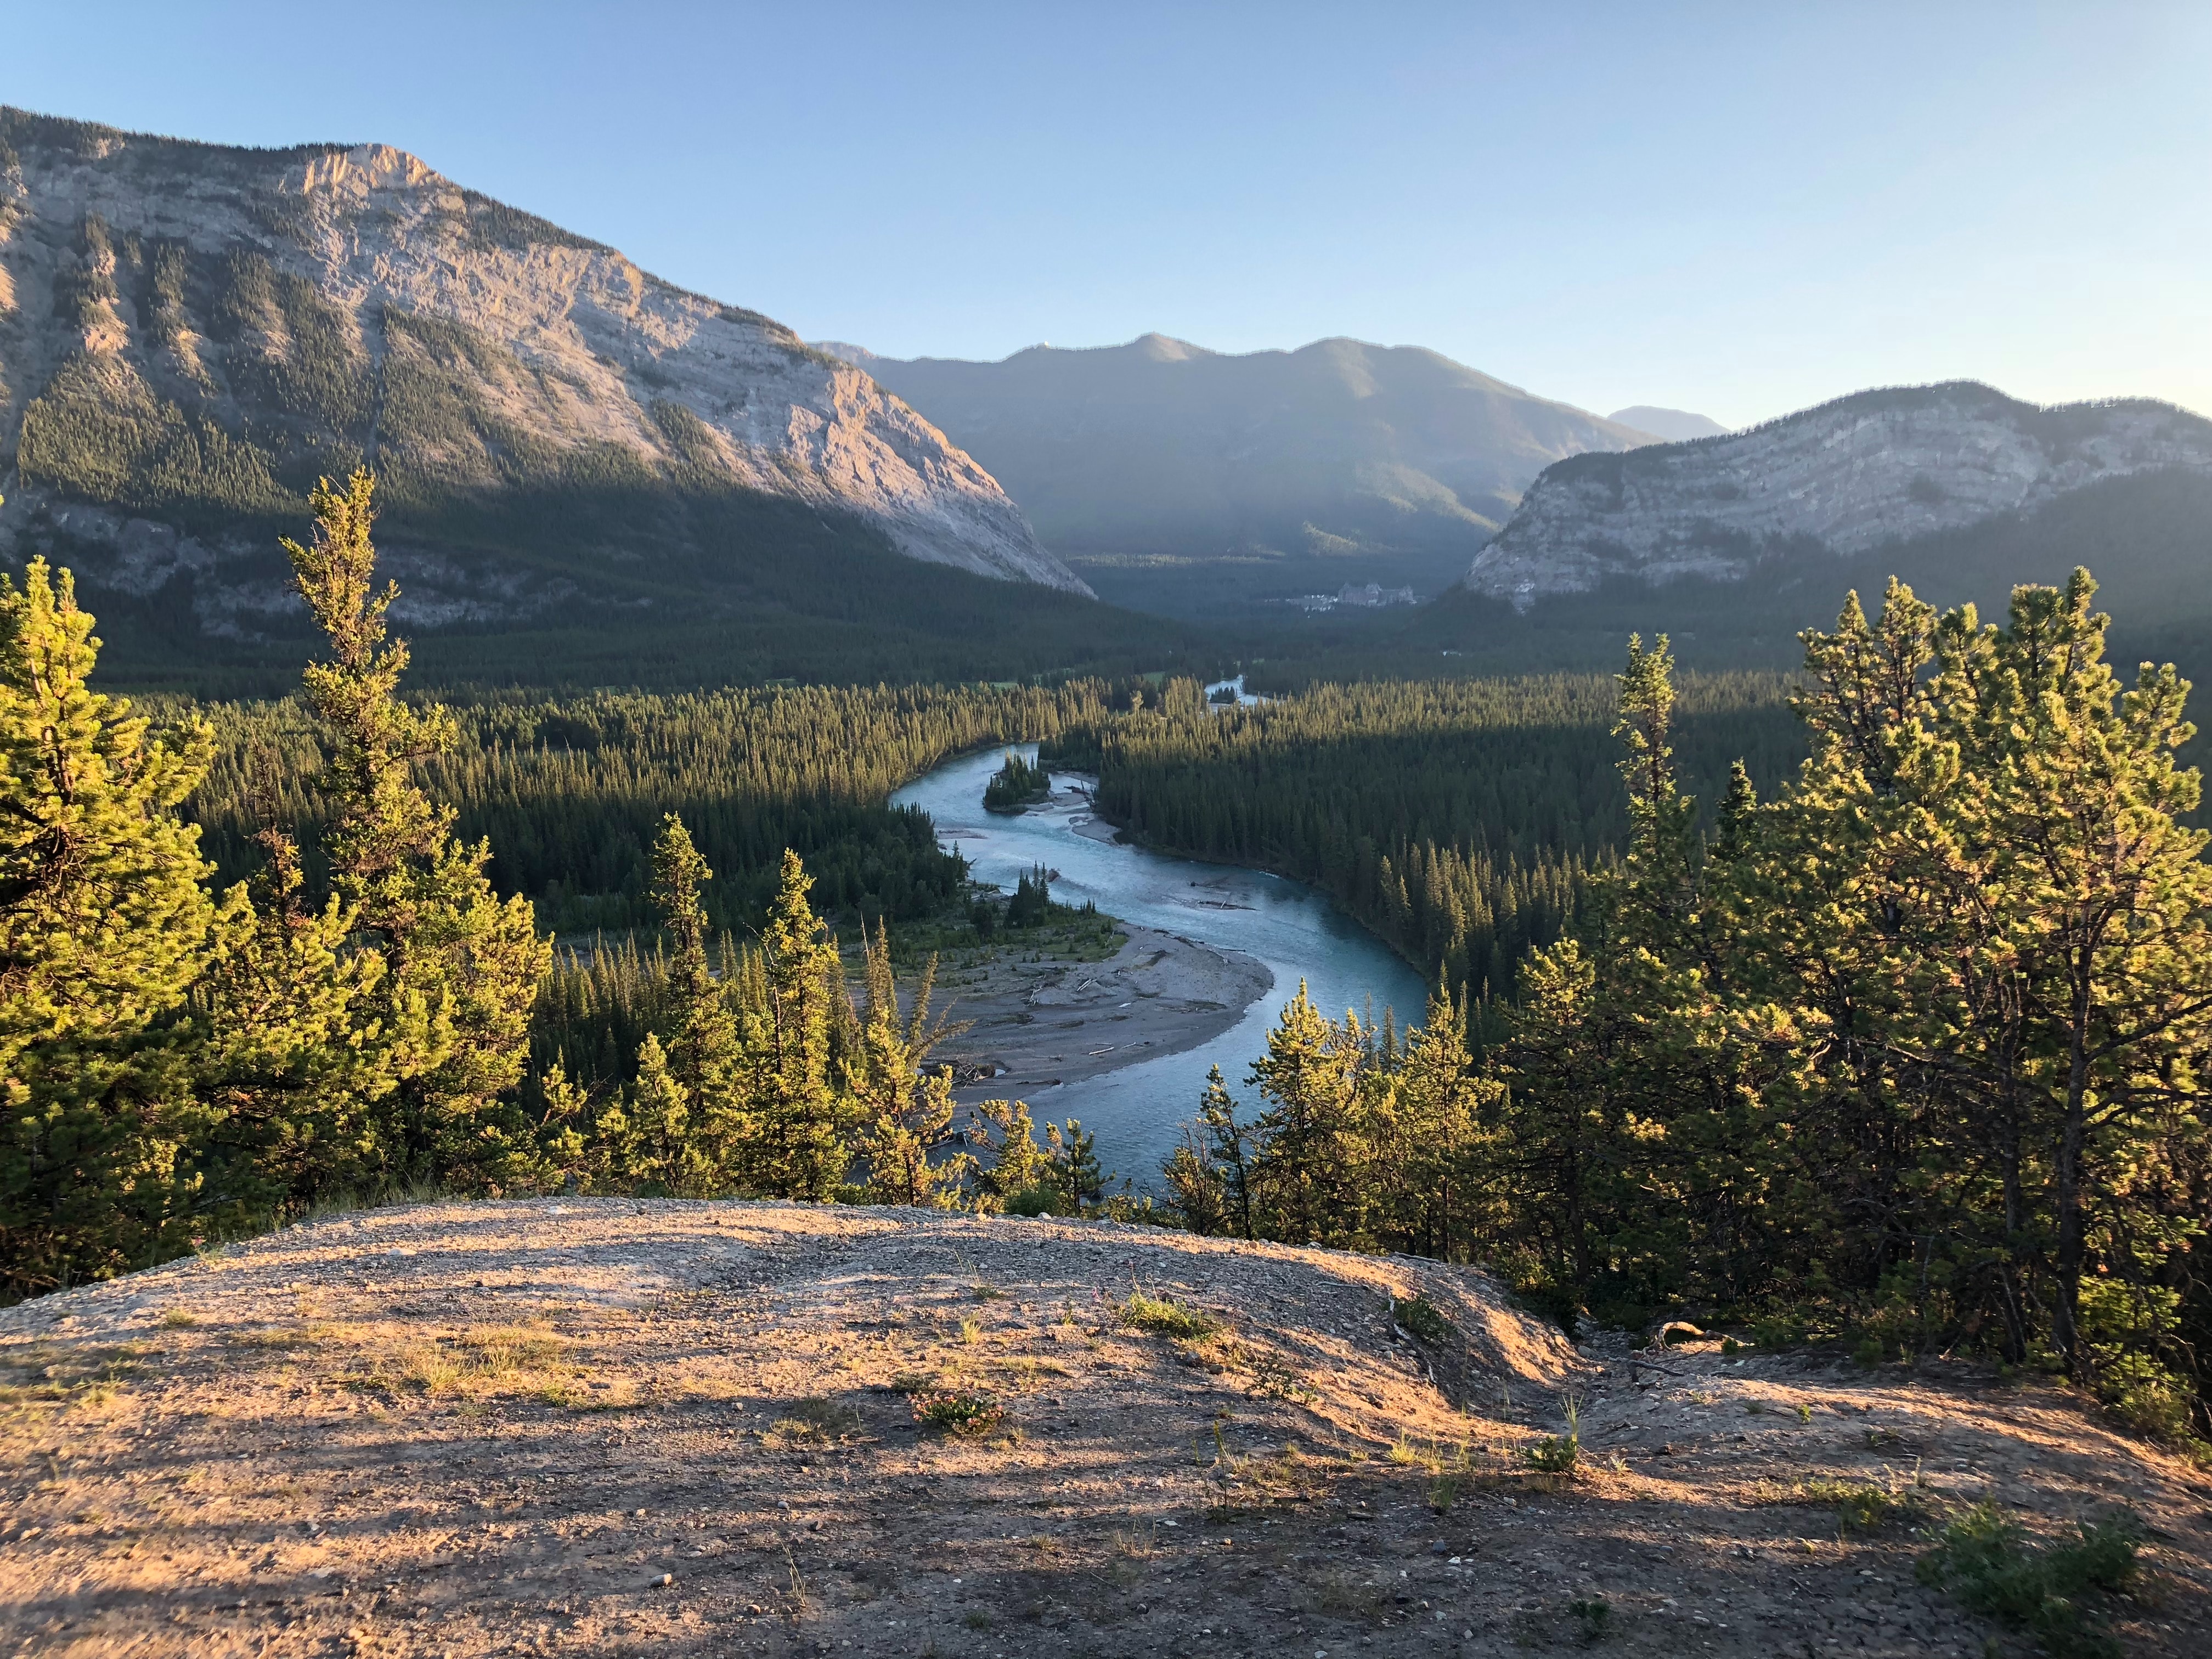
<path id="1" fill-rule="evenodd" d="M 891 790 L 953 754 L 1097 721 L 1115 695 L 1073 681 L 456 699 L 453 743 L 420 779 L 462 838 L 489 838 L 498 889 L 529 896 L 557 933 L 657 925 L 650 847 L 668 812 L 719 872 L 703 900 L 719 927 L 759 922 L 785 847 L 818 905 L 896 922 L 958 902 L 967 872 L 927 818 L 885 805 Z M 319 726 L 299 701 L 204 712 L 217 754 L 188 810 L 221 878 L 239 880 L 263 825 L 319 825 Z"/>

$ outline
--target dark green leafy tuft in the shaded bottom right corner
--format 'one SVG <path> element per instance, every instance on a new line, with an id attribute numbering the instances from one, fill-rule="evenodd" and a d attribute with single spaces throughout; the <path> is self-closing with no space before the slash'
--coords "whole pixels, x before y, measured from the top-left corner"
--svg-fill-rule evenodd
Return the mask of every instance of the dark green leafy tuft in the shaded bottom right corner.
<path id="1" fill-rule="evenodd" d="M 2101 1599 L 2135 1582 L 2141 1540 L 2141 1522 L 2119 1513 L 2075 1526 L 2062 1542 L 2037 1544 L 2020 1522 L 1984 1502 L 1936 1535 L 1913 1575 L 2033 1637 L 2053 1659 L 2108 1659 L 2119 1641 L 2106 1630 Z"/>

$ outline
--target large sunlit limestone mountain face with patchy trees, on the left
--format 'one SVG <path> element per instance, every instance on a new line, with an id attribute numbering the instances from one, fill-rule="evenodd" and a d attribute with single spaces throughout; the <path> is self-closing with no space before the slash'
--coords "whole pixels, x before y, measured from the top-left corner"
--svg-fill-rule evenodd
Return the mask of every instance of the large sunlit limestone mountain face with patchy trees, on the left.
<path id="1" fill-rule="evenodd" d="M 595 568 L 657 560 L 712 586 L 743 535 L 774 555 L 763 504 L 1086 591 L 867 374 L 403 150 L 0 111 L 4 551 L 62 533 L 122 586 L 192 573 L 201 622 L 237 630 L 283 604 L 250 551 L 356 462 L 429 624 L 573 606 Z"/>

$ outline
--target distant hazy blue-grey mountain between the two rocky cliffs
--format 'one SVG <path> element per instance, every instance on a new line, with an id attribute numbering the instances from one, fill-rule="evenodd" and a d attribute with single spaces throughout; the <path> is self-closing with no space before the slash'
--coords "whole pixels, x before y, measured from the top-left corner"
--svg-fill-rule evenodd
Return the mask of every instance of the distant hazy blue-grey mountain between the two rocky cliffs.
<path id="1" fill-rule="evenodd" d="M 1316 341 L 1228 356 L 1146 334 L 1002 363 L 858 363 L 1020 502 L 1102 595 L 1177 608 L 1358 575 L 1436 593 L 1562 456 L 1652 434 L 1436 352 Z"/>

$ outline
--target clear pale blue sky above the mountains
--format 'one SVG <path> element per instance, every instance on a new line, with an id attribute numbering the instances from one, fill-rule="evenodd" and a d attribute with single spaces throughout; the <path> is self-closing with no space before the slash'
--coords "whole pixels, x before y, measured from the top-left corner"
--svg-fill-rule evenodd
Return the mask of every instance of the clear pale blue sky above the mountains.
<path id="1" fill-rule="evenodd" d="M 2212 4 L 102 4 L 0 100 L 383 139 L 807 338 L 2212 414 Z"/>

